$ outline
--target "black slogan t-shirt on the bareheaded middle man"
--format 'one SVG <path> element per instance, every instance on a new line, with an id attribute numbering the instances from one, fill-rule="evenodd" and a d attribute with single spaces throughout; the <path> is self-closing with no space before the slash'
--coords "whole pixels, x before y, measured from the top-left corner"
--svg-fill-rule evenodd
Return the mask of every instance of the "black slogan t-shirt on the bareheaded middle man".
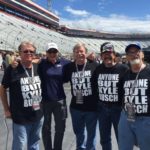
<path id="1" fill-rule="evenodd" d="M 91 78 L 95 68 L 98 66 L 96 62 L 88 61 L 84 71 L 84 65 L 76 65 L 74 62 L 64 67 L 64 81 L 70 81 L 72 100 L 70 107 L 81 111 L 95 111 L 97 107 L 97 99 L 94 98 L 91 88 Z M 78 104 L 76 99 L 76 90 L 80 90 L 83 97 L 83 104 Z"/>

